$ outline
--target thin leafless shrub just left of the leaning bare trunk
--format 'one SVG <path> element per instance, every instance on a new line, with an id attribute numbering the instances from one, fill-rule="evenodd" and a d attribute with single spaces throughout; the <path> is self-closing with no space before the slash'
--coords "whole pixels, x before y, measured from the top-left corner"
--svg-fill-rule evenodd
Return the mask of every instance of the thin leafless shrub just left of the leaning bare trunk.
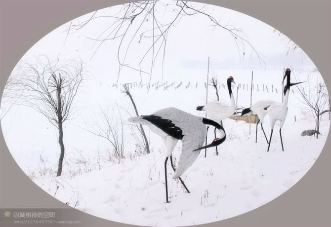
<path id="1" fill-rule="evenodd" d="M 114 119 L 113 113 L 109 109 L 103 109 L 99 106 L 102 116 L 102 121 L 99 123 L 94 120 L 93 124 L 85 122 L 84 130 L 92 133 L 95 136 L 106 139 L 112 146 L 115 156 L 118 159 L 124 158 L 124 126 L 122 115 L 118 114 L 119 119 Z"/>

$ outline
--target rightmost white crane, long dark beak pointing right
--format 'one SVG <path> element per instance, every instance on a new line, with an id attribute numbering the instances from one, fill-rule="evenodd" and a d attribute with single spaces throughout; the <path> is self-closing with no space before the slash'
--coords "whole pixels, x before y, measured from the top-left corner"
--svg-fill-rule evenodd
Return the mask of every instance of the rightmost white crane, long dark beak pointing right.
<path id="1" fill-rule="evenodd" d="M 283 82 L 284 82 L 285 77 L 287 77 L 287 84 L 284 87 L 284 101 L 283 101 L 283 103 L 273 102 L 271 105 L 267 105 L 263 108 L 268 113 L 269 120 L 270 120 L 270 126 L 271 126 L 271 133 L 270 133 L 270 139 L 269 139 L 269 145 L 268 145 L 268 150 L 267 151 L 269 151 L 269 148 L 270 148 L 272 133 L 273 133 L 273 130 L 274 130 L 276 120 L 280 121 L 279 134 L 281 136 L 282 150 L 284 151 L 283 139 L 282 139 L 282 127 L 284 125 L 286 116 L 288 114 L 288 109 L 289 109 L 288 108 L 288 103 L 289 103 L 290 87 L 293 86 L 293 85 L 299 84 L 299 83 L 303 83 L 303 82 L 291 83 L 290 82 L 290 74 L 291 74 L 290 69 L 286 69 L 285 75 L 284 75 L 284 78 L 283 78 Z"/>

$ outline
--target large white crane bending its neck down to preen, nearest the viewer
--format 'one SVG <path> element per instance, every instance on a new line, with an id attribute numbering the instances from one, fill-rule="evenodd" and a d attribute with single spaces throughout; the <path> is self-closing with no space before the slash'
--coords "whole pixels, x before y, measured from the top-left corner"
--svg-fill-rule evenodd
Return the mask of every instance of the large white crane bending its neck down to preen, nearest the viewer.
<path id="1" fill-rule="evenodd" d="M 166 202 L 168 200 L 168 186 L 166 175 L 166 162 L 170 156 L 171 167 L 175 171 L 173 179 L 178 178 L 186 191 L 190 191 L 185 186 L 180 178 L 182 175 L 197 159 L 200 150 L 210 148 L 223 143 L 226 138 L 225 131 L 217 122 L 193 114 L 186 113 L 173 107 L 159 110 L 151 115 L 141 115 L 137 117 L 129 117 L 129 122 L 143 124 L 150 128 L 152 132 L 162 137 L 165 143 L 165 196 Z M 207 135 L 206 124 L 216 127 L 220 133 L 220 138 L 215 138 L 212 143 L 204 146 L 205 138 Z M 180 153 L 177 169 L 173 166 L 172 151 L 176 146 L 178 140 L 182 141 L 182 151 Z"/>

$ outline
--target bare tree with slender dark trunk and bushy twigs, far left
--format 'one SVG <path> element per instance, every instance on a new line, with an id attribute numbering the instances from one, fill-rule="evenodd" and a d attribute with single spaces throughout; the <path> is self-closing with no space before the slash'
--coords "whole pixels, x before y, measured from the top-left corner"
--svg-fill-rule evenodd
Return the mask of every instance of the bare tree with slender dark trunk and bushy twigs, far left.
<path id="1" fill-rule="evenodd" d="M 64 158 L 63 123 L 72 119 L 77 110 L 73 102 L 83 80 L 81 60 L 59 59 L 50 61 L 44 55 L 36 64 L 25 63 L 21 66 L 19 80 L 15 83 L 22 90 L 22 105 L 32 107 L 44 115 L 58 129 L 60 157 L 56 176 L 62 173 Z"/>

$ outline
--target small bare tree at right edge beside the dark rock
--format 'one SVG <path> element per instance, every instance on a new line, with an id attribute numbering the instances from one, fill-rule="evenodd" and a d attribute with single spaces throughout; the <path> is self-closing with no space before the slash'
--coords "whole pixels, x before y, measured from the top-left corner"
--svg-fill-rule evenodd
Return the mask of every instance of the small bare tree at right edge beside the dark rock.
<path id="1" fill-rule="evenodd" d="M 317 72 L 314 70 L 314 72 Z M 329 102 L 328 91 L 326 85 L 323 81 L 316 80 L 316 84 L 312 84 L 312 80 L 310 80 L 310 75 L 308 75 L 306 85 L 298 86 L 299 95 L 301 97 L 301 102 L 307 107 L 308 110 L 314 116 L 315 119 L 315 133 L 316 138 L 318 139 L 318 135 L 320 133 L 320 123 L 321 123 L 321 115 L 330 111 L 325 110 L 327 103 Z"/>

